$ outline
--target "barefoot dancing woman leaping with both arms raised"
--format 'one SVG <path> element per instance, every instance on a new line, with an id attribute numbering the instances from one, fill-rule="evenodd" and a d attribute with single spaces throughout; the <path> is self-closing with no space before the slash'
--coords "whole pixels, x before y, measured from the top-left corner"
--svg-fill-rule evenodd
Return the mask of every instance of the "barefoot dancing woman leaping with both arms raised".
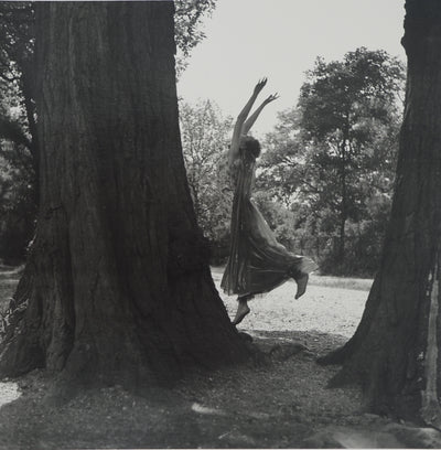
<path id="1" fill-rule="evenodd" d="M 263 78 L 256 85 L 251 97 L 237 117 L 228 152 L 235 195 L 230 253 L 220 286 L 227 294 L 238 296 L 234 324 L 241 322 L 249 313 L 248 300 L 255 294 L 269 292 L 290 278 L 297 282 L 295 299 L 298 299 L 305 292 L 308 274 L 316 269 L 314 261 L 288 251 L 277 242 L 251 200 L 260 144 L 257 139 L 247 135 L 265 106 L 278 98 L 277 94 L 270 95 L 248 118 L 257 96 L 266 84 L 267 78 Z"/>

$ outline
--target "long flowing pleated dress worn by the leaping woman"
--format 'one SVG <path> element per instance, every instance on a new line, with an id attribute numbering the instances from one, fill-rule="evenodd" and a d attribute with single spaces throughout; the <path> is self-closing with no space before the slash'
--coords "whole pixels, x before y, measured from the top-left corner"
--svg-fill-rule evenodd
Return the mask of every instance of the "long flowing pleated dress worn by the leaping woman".
<path id="1" fill-rule="evenodd" d="M 234 163 L 235 195 L 232 212 L 230 253 L 220 287 L 232 296 L 269 292 L 288 279 L 318 267 L 277 242 L 254 204 L 256 159 L 246 152 Z"/>

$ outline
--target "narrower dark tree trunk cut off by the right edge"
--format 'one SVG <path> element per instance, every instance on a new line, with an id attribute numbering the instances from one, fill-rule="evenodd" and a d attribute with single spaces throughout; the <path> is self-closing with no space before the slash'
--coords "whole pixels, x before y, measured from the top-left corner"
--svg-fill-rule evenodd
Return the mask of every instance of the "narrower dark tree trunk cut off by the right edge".
<path id="1" fill-rule="evenodd" d="M 355 335 L 324 363 L 375 410 L 440 426 L 441 3 L 408 0 L 408 84 L 391 218 Z"/>

